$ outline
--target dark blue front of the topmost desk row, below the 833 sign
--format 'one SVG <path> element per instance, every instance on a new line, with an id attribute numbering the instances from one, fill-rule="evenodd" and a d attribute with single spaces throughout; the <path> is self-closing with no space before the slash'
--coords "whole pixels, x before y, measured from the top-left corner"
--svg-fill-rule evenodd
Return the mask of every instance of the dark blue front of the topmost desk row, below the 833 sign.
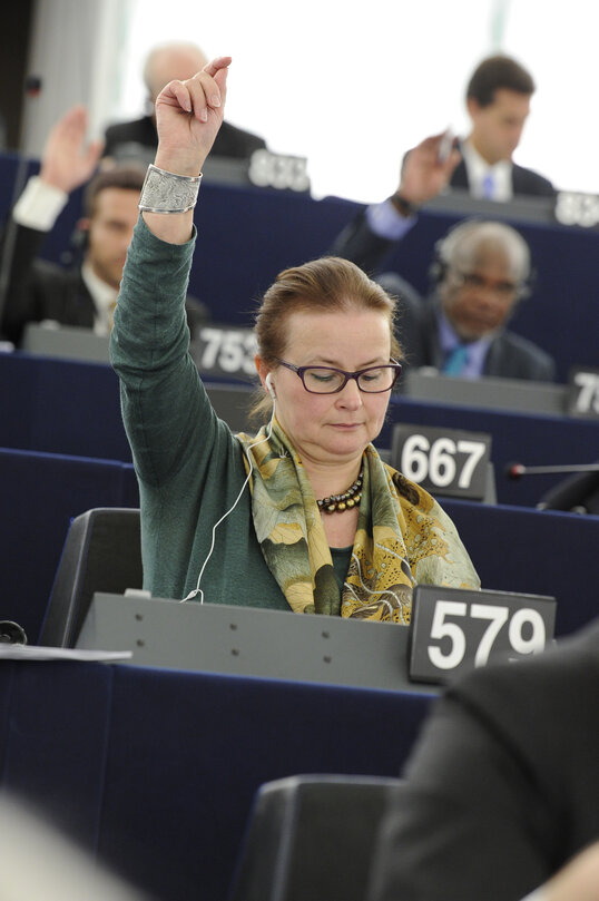
<path id="1" fill-rule="evenodd" d="M 0 215 L 9 208 L 16 168 L 13 155 L 0 155 Z M 29 169 L 37 169 L 37 164 L 32 161 Z M 328 253 L 360 207 L 337 197 L 314 200 L 293 192 L 205 179 L 195 215 L 199 241 L 192 293 L 209 305 L 215 321 L 251 324 L 256 297 L 276 274 Z M 46 257 L 58 261 L 68 249 L 80 209 L 81 192 L 77 192 L 46 241 Z M 384 268 L 395 268 L 426 293 L 434 243 L 461 218 L 460 212 L 422 210 Z M 553 354 L 559 380 L 566 381 L 570 366 L 599 364 L 599 229 L 531 221 L 513 221 L 513 225 L 530 244 L 537 275 L 512 326 Z"/>

